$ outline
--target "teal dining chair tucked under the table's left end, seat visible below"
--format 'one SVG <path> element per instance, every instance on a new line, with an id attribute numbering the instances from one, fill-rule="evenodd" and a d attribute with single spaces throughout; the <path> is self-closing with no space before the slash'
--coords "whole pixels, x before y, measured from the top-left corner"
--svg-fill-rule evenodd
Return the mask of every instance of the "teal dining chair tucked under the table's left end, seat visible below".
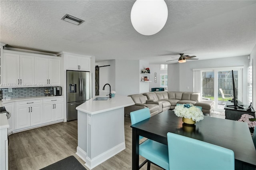
<path id="1" fill-rule="evenodd" d="M 134 125 L 135 123 L 150 118 L 150 111 L 148 108 L 133 111 L 130 113 L 130 117 L 132 125 Z M 140 136 L 140 139 L 142 138 L 143 137 Z M 140 156 L 146 158 L 146 160 L 142 164 L 140 164 L 139 168 L 144 166 L 144 164 L 148 163 L 147 169 L 149 170 L 150 164 L 152 163 L 166 170 L 169 169 L 167 145 L 147 139 L 140 144 L 139 154 Z"/>

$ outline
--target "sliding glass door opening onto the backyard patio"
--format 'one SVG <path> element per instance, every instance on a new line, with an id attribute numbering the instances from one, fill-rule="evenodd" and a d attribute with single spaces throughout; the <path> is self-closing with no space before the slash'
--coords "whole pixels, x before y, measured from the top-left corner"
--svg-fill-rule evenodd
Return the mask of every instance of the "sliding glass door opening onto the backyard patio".
<path id="1" fill-rule="evenodd" d="M 232 70 L 236 82 L 238 101 L 242 101 L 242 69 L 214 68 L 211 70 L 200 70 L 202 99 L 214 101 L 215 111 L 224 112 L 226 102 L 232 100 Z"/>

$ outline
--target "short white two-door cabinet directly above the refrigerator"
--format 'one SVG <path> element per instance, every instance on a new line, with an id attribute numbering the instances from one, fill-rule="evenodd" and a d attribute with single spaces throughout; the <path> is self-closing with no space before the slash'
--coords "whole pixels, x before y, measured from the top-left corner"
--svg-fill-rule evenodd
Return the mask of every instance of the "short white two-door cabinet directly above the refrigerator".
<path id="1" fill-rule="evenodd" d="M 66 69 L 78 71 L 90 71 L 90 57 L 65 54 Z"/>

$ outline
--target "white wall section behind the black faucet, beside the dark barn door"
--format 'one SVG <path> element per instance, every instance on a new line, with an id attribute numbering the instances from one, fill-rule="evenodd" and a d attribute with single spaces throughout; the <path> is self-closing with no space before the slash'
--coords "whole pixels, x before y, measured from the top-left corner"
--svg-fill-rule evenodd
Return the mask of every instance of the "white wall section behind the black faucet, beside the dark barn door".
<path id="1" fill-rule="evenodd" d="M 108 61 L 103 61 L 103 62 L 97 62 L 97 63 L 95 63 L 95 65 L 98 65 L 99 67 L 104 66 L 104 65 L 110 65 L 110 66 L 99 68 L 100 69 L 100 71 L 99 71 L 99 95 L 109 94 L 109 86 L 108 85 L 106 85 L 104 91 L 102 90 L 103 86 L 106 83 L 110 84 L 111 91 L 116 91 L 116 61 L 108 60 Z M 95 78 L 94 78 L 94 80 L 95 80 Z"/>

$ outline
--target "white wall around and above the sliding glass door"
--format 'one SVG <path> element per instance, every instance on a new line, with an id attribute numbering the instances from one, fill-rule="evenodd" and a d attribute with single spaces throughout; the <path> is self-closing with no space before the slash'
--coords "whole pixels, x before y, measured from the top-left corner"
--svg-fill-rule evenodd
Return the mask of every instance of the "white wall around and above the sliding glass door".
<path id="1" fill-rule="evenodd" d="M 243 103 L 247 104 L 248 55 L 174 63 L 168 65 L 168 91 L 193 91 L 193 69 L 244 66 Z M 178 76 L 178 77 L 177 77 Z M 179 79 L 179 82 L 177 82 Z M 170 80 L 170 83 L 169 83 Z M 188 87 L 188 88 L 187 88 Z"/>

